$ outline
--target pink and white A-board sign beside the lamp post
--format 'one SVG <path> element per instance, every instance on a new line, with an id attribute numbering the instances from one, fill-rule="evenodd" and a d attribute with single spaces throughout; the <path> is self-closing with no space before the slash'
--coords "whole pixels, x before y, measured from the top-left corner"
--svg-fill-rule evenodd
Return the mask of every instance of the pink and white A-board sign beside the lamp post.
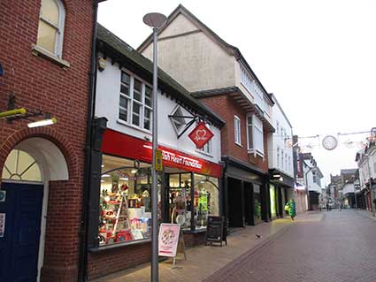
<path id="1" fill-rule="evenodd" d="M 161 224 L 158 235 L 158 255 L 176 256 L 180 235 L 180 225 Z"/>

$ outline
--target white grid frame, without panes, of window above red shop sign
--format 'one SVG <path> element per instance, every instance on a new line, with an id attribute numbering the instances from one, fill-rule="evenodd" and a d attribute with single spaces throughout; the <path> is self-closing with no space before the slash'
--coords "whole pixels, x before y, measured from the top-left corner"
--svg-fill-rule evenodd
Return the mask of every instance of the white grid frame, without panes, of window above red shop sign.
<path id="1" fill-rule="evenodd" d="M 122 74 L 126 73 L 129 76 L 129 95 L 126 95 L 121 92 L 121 87 L 125 84 L 125 82 L 122 81 Z M 137 99 L 134 99 L 134 80 L 138 80 L 142 84 L 141 88 L 141 102 Z M 150 88 L 150 104 L 151 106 L 147 105 L 145 103 L 146 101 L 146 88 Z M 122 68 L 120 73 L 120 89 L 119 89 L 119 111 L 118 111 L 118 120 L 120 123 L 125 124 L 127 126 L 132 126 L 134 128 L 140 129 L 142 131 L 146 131 L 148 133 L 151 133 L 152 131 L 152 119 L 153 119 L 153 104 L 152 104 L 152 87 L 149 83 L 147 83 L 145 80 L 142 80 L 139 76 L 135 75 L 133 72 L 129 72 L 127 69 Z M 124 120 L 120 118 L 120 110 L 124 109 L 124 107 L 120 106 L 120 97 L 127 99 L 127 120 Z M 140 106 L 140 113 L 134 113 L 134 103 Z M 145 109 L 150 111 L 150 118 L 145 118 Z M 139 125 L 134 124 L 134 115 L 139 117 Z M 150 128 L 145 128 L 144 121 L 145 119 L 150 120 Z"/>

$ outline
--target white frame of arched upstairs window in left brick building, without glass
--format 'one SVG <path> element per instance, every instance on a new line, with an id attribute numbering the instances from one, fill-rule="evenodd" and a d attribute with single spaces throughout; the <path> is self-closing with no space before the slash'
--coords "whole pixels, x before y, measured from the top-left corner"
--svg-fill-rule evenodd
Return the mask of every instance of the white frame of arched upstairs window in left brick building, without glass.
<path id="1" fill-rule="evenodd" d="M 58 26 L 51 23 L 50 20 L 42 17 L 42 1 L 41 1 L 41 8 L 39 10 L 38 34 L 37 34 L 37 38 L 36 38 L 36 46 L 38 46 L 42 50 L 52 54 L 53 56 L 61 59 L 62 56 L 63 56 L 64 27 L 65 27 L 65 6 L 64 6 L 64 4 L 61 0 L 51 0 L 51 1 L 55 1 L 55 3 L 58 6 Z M 53 52 L 51 52 L 50 50 L 44 49 L 41 45 L 39 45 L 37 43 L 38 38 L 39 38 L 39 25 L 40 25 L 41 21 L 44 24 L 46 24 L 49 27 L 52 27 L 56 30 L 55 48 L 54 48 Z"/>

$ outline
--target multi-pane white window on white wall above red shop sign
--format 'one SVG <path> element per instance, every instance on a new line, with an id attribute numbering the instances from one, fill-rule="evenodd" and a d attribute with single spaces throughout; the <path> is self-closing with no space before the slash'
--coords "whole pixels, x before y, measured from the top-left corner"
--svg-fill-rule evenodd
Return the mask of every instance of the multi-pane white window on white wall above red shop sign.
<path id="1" fill-rule="evenodd" d="M 122 71 L 119 99 L 119 119 L 128 125 L 151 131 L 152 88 L 135 77 Z"/>

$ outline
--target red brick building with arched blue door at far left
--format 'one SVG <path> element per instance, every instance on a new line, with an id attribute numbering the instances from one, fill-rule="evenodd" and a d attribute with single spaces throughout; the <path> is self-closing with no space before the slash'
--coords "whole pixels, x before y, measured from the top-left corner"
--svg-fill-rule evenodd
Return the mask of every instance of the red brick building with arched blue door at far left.
<path id="1" fill-rule="evenodd" d="M 0 2 L 0 281 L 78 280 L 94 2 Z"/>

